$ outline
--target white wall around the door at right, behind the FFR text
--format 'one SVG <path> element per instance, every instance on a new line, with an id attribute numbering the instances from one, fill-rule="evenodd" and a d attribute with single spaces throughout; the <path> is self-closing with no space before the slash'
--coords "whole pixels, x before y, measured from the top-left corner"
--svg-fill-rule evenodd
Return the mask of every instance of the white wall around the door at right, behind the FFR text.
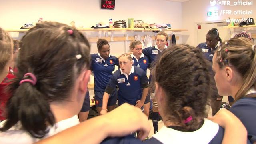
<path id="1" fill-rule="evenodd" d="M 213 0 L 212 0 L 213 1 Z M 237 0 L 230 0 L 234 2 Z M 245 0 L 244 0 L 245 1 Z M 250 0 L 248 0 L 250 1 Z M 188 29 L 187 32 L 182 32 L 182 43 L 187 43 L 192 46 L 197 46 L 196 43 L 196 23 L 211 22 L 218 20 L 226 20 L 230 18 L 254 18 L 256 19 L 256 1 L 253 0 L 253 6 L 210 6 L 210 0 L 190 0 L 182 2 L 182 28 Z M 252 15 L 221 15 L 207 17 L 207 12 L 211 9 L 221 10 L 252 10 Z"/>

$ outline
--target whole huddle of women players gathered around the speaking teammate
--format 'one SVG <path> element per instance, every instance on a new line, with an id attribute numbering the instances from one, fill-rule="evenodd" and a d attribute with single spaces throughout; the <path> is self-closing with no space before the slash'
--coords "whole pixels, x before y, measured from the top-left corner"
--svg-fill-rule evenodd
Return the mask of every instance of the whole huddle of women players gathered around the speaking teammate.
<path id="1" fill-rule="evenodd" d="M 117 58 L 104 39 L 90 54 L 66 24 L 36 24 L 20 48 L 0 28 L 0 143 L 256 143 L 256 45 L 244 35 L 222 42 L 213 28 L 194 47 L 167 46 L 158 32 L 154 46 L 135 40 Z M 86 120 L 92 73 L 100 116 Z M 222 96 L 234 99 L 230 111 L 220 110 Z M 154 135 L 144 140 L 151 103 Z"/>

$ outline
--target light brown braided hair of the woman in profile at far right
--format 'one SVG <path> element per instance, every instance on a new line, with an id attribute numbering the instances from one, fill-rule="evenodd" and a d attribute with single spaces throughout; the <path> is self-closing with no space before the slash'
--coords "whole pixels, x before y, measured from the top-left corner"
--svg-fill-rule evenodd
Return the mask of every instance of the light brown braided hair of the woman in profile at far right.
<path id="1" fill-rule="evenodd" d="M 235 101 L 243 98 L 250 90 L 256 88 L 255 45 L 248 38 L 231 38 L 216 50 L 216 62 L 220 68 L 233 66 L 243 77 L 243 84 L 235 95 Z"/>

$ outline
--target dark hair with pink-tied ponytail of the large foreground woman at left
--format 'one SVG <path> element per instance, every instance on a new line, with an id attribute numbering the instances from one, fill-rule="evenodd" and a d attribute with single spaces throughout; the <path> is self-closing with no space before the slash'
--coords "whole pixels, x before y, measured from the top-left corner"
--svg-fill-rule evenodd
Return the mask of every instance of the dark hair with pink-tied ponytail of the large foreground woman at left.
<path id="1" fill-rule="evenodd" d="M 36 24 L 20 44 L 18 73 L 8 91 L 12 95 L 6 105 L 7 121 L 0 130 L 20 121 L 24 130 L 42 138 L 47 126 L 55 123 L 49 102 L 70 99 L 77 76 L 88 69 L 90 44 L 78 30 L 58 22 Z M 19 84 L 28 72 L 37 78 L 34 86 Z"/>

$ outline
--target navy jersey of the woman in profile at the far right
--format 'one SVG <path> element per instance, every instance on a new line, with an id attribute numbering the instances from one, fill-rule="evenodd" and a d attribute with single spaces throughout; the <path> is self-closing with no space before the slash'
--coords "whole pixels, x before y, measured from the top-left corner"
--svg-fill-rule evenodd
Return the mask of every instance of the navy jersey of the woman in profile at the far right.
<path id="1" fill-rule="evenodd" d="M 230 111 L 244 124 L 251 142 L 256 140 L 256 93 L 237 100 Z"/>

